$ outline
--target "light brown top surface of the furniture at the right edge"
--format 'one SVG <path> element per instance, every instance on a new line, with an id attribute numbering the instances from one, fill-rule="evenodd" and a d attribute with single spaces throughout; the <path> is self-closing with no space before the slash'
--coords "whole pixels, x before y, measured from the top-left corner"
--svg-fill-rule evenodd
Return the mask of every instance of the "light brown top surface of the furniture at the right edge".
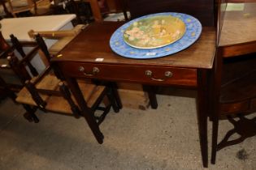
<path id="1" fill-rule="evenodd" d="M 256 2 L 237 5 L 240 7 L 236 7 L 233 11 L 225 11 L 219 46 L 256 40 Z"/>

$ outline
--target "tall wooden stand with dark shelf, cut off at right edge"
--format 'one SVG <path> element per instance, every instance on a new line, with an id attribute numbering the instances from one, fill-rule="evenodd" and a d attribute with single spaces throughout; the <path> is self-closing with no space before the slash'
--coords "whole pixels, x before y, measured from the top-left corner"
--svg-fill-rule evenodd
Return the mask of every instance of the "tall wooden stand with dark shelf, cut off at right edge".
<path id="1" fill-rule="evenodd" d="M 215 60 L 212 164 L 216 151 L 256 135 L 256 118 L 244 117 L 256 110 L 256 3 L 244 2 L 241 11 L 219 11 L 222 27 Z M 227 6 L 226 3 L 222 1 L 221 5 Z M 234 128 L 218 143 L 220 117 L 228 117 Z M 232 134 L 240 137 L 230 140 Z"/>

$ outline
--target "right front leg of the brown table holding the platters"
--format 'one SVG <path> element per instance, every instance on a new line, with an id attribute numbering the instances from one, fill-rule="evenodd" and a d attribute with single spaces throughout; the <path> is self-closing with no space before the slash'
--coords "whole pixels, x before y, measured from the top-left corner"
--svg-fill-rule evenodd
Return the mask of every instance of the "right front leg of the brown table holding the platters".
<path id="1" fill-rule="evenodd" d="M 197 121 L 203 167 L 208 167 L 207 142 L 207 70 L 197 70 Z"/>

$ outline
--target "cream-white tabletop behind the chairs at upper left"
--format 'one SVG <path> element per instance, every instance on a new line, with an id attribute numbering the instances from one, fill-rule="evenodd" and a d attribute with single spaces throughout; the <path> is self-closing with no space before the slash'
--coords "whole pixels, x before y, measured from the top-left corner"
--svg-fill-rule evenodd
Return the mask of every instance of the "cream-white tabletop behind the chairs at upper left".
<path id="1" fill-rule="evenodd" d="M 31 41 L 28 36 L 29 30 L 57 31 L 75 18 L 76 15 L 47 15 L 2 19 L 2 36 L 10 40 L 10 35 L 14 34 L 20 41 Z"/>

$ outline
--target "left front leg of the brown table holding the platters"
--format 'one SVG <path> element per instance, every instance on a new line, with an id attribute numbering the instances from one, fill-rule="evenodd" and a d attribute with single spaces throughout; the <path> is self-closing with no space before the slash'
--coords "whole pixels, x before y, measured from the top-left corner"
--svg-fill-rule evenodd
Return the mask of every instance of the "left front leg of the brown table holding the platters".
<path id="1" fill-rule="evenodd" d="M 87 121 L 89 128 L 93 131 L 94 137 L 97 139 L 98 143 L 102 144 L 104 136 L 99 130 L 99 126 L 93 117 L 93 112 L 87 107 L 84 96 L 80 91 L 80 87 L 78 86 L 76 79 L 65 76 L 65 80 L 68 87 L 70 87 L 73 96 L 75 96 L 77 104 L 80 106 L 81 114 L 83 117 L 85 117 L 85 121 Z"/>

